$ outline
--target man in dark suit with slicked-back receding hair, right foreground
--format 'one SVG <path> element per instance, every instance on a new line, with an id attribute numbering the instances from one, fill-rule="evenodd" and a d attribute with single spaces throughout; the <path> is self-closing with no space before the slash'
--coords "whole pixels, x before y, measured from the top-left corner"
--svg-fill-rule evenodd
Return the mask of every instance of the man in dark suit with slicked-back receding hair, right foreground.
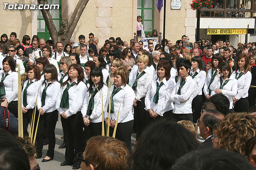
<path id="1" fill-rule="evenodd" d="M 211 148 L 212 146 L 212 127 L 215 123 L 218 123 L 224 119 L 224 115 L 216 110 L 206 110 L 202 113 L 201 117 L 197 121 L 197 125 L 200 129 L 200 136 L 204 138 L 202 145 L 204 148 Z"/>

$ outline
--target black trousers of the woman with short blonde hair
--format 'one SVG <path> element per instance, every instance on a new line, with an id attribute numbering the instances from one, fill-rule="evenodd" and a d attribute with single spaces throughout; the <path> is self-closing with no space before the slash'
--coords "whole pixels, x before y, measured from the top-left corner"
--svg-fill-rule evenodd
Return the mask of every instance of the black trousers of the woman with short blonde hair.
<path id="1" fill-rule="evenodd" d="M 136 141 L 140 138 L 142 131 L 148 126 L 150 115 L 145 108 L 145 97 L 137 101 L 134 108 L 134 121 L 136 121 Z"/>

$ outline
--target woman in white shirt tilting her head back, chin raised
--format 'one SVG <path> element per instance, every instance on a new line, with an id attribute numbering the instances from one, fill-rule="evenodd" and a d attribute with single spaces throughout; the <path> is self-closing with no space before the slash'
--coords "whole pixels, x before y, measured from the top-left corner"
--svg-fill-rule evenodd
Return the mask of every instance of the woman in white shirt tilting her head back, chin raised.
<path id="1" fill-rule="evenodd" d="M 74 155 L 84 149 L 81 109 L 87 86 L 83 80 L 82 66 L 71 64 L 68 69 L 68 79 L 62 83 L 58 94 L 56 106 L 61 115 L 66 143 L 65 161 L 60 166 L 74 164 L 74 168 L 79 168 L 80 165 L 79 162 L 74 161 Z"/>

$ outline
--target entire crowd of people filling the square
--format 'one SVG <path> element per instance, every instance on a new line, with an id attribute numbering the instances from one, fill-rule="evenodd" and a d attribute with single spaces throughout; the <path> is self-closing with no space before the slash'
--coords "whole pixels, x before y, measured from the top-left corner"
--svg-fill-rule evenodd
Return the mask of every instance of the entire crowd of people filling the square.
<path id="1" fill-rule="evenodd" d="M 5 150 L 0 152 L 0 169 L 17 169 L 8 163 L 14 148 L 16 157 L 27 154 L 27 159 L 17 159 L 24 170 L 27 163 L 31 170 L 38 169 L 38 158 L 53 160 L 59 115 L 64 139 L 60 148 L 66 149 L 60 166 L 176 170 L 206 169 L 211 162 L 209 169 L 216 169 L 212 162 L 222 156 L 222 169 L 256 167 L 254 43 L 238 43 L 236 49 L 228 40 L 200 39 L 192 44 L 183 35 L 175 45 L 164 39 L 154 46 L 148 39 L 145 46 L 142 41 L 131 39 L 129 45 L 110 37 L 98 49 L 93 33 L 89 41 L 84 35 L 78 39 L 79 43 L 70 39 L 66 45 L 54 45 L 37 35 L 30 42 L 24 35 L 20 45 L 14 32 L 10 40 L 1 36 L 1 126 L 17 134 L 15 128 L 6 128 L 5 116 L 8 112 L 13 121 L 18 118 L 20 70 L 25 137 L 6 134 L 7 139 L 0 139 Z M 34 109 L 35 146 L 27 138 Z M 14 126 L 12 120 L 8 126 Z M 46 140 L 48 150 L 43 153 Z M 198 162 L 196 156 L 204 159 Z"/>

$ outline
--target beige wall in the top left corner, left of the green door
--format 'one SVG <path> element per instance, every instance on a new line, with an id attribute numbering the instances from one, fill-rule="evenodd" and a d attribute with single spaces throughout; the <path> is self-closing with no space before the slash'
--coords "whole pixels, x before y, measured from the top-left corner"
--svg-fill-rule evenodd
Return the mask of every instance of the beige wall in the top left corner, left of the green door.
<path id="1" fill-rule="evenodd" d="M 11 32 L 17 33 L 17 38 L 22 41 L 23 35 L 31 35 L 31 10 L 4 10 L 3 3 L 31 4 L 31 0 L 0 0 L 0 35 L 6 33 L 10 38 Z"/>

